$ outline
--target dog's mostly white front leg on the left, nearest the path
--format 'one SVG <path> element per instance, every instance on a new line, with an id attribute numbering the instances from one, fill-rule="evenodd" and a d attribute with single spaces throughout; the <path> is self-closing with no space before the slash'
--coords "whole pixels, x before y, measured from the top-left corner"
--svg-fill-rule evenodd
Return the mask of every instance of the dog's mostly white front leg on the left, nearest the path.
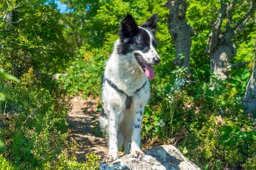
<path id="1" fill-rule="evenodd" d="M 108 150 L 108 156 L 104 158 L 105 163 L 109 163 L 112 161 L 115 161 L 118 159 L 118 148 L 117 148 L 117 129 L 118 129 L 118 115 L 115 112 L 115 107 L 108 107 L 109 117 L 109 129 L 108 129 L 108 135 L 109 135 L 109 150 Z"/>

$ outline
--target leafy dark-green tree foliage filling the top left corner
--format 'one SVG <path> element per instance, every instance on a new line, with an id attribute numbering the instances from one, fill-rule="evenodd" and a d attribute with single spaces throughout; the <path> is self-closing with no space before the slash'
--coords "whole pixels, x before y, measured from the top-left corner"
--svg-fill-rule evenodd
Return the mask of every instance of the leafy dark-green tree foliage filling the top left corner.
<path id="1" fill-rule="evenodd" d="M 4 0 L 0 2 L 0 65 L 19 78 L 29 68 L 59 72 L 73 57 L 72 44 L 63 35 L 65 25 L 54 2 L 46 0 Z M 16 24 L 6 21 L 11 10 Z M 15 21 L 14 21 L 15 22 Z M 12 68 L 12 69 L 9 69 Z"/>

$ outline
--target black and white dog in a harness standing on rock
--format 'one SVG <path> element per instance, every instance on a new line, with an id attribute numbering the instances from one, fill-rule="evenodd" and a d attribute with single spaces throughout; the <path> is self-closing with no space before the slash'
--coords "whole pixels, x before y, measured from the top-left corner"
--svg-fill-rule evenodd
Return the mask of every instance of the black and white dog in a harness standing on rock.
<path id="1" fill-rule="evenodd" d="M 117 151 L 123 144 L 125 154 L 130 149 L 133 157 L 144 156 L 139 143 L 144 107 L 150 96 L 148 79 L 155 77 L 151 65 L 160 62 L 155 39 L 157 16 L 137 26 L 132 15 L 126 15 L 106 64 L 100 116 L 101 129 L 109 137 L 106 163 L 118 159 Z"/>

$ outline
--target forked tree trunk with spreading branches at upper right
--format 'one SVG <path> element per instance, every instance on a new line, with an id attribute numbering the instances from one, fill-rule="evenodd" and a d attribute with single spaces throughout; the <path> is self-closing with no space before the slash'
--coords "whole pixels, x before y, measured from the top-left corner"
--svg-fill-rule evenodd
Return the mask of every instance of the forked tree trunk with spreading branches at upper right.
<path id="1" fill-rule="evenodd" d="M 210 57 L 211 72 L 213 74 L 219 74 L 219 78 L 222 80 L 228 77 L 230 68 L 249 63 L 235 63 L 229 65 L 231 58 L 236 55 L 236 46 L 231 39 L 242 31 L 247 20 L 256 8 L 256 0 L 249 1 L 249 8 L 245 15 L 237 22 L 234 22 L 232 11 L 237 2 L 245 3 L 241 0 L 232 0 L 231 2 L 228 0 L 220 0 L 220 11 L 209 35 L 207 49 L 205 50 L 206 54 Z M 224 28 L 222 28 L 223 22 L 226 22 Z"/>

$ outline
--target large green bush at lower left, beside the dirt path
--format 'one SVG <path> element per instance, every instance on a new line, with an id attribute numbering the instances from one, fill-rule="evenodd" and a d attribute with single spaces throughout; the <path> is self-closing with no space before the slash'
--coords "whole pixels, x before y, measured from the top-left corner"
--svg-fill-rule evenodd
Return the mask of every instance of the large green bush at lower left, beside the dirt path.
<path id="1" fill-rule="evenodd" d="M 97 167 L 99 157 L 88 156 L 87 163 L 77 163 L 67 142 L 67 112 L 70 104 L 52 76 L 34 73 L 20 77 L 20 83 L 4 82 L 8 94 L 1 114 L 0 154 L 9 168 L 86 169 Z M 9 163 L 9 164 L 8 164 Z M 98 167 L 99 168 L 99 167 Z"/>

